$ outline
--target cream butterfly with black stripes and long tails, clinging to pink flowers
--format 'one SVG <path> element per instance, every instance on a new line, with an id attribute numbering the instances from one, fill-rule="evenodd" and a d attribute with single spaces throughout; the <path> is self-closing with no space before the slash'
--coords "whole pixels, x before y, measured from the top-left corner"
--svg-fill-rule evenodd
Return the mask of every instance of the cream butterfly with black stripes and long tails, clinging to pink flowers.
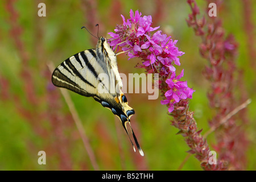
<path id="1" fill-rule="evenodd" d="M 52 73 L 52 83 L 82 96 L 93 97 L 117 115 L 128 136 L 129 123 L 138 151 L 144 155 L 130 124 L 135 111 L 128 105 L 127 98 L 121 91 L 122 80 L 117 68 L 117 57 L 106 38 L 98 38 L 96 49 L 76 53 L 61 63 Z M 131 141 L 130 137 L 129 139 Z M 132 141 L 131 144 L 135 151 Z"/>

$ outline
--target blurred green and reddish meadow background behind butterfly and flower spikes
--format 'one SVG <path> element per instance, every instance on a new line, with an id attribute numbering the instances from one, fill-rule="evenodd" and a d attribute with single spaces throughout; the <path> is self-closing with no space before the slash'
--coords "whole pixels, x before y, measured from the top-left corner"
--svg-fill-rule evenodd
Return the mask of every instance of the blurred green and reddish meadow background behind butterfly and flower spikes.
<path id="1" fill-rule="evenodd" d="M 46 4 L 46 17 L 38 16 L 38 4 Z M 204 12 L 205 1 L 197 1 Z M 153 26 L 160 26 L 185 54 L 180 57 L 184 79 L 193 87 L 189 105 L 195 111 L 199 129 L 209 129 L 213 113 L 207 99 L 209 82 L 202 75 L 207 61 L 199 53 L 200 38 L 196 37 L 185 19 L 191 13 L 186 1 L 0 1 L 0 169 L 1 170 L 92 170 L 88 154 L 75 122 L 60 90 L 51 85 L 47 64 L 55 66 L 73 54 L 94 48 L 94 39 L 82 26 L 106 36 L 122 24 L 120 14 L 129 18 L 130 9 L 151 15 Z M 252 10 L 256 9 L 253 1 Z M 226 34 L 233 34 L 239 43 L 237 67 L 245 73 L 249 105 L 246 134 L 249 140 L 247 170 L 256 169 L 255 135 L 255 66 L 251 63 L 248 45 L 255 48 L 255 36 L 249 41 L 245 27 L 245 8 L 241 1 L 225 1 L 221 12 Z M 256 12 L 251 15 L 256 22 Z M 255 24 L 254 24 L 255 26 Z M 254 28 L 255 34 L 255 28 Z M 140 60 L 127 61 L 118 56 L 121 73 L 143 73 L 134 68 Z M 235 91 L 236 92 L 236 91 Z M 148 94 L 126 94 L 135 115 L 131 125 L 144 157 L 133 152 L 130 141 L 119 120 L 93 98 L 69 92 L 79 113 L 86 136 L 96 156 L 100 170 L 176 170 L 187 156 L 189 147 L 177 129 L 170 125 L 167 107 L 158 100 L 148 100 Z M 214 134 L 208 143 L 214 144 Z M 210 149 L 212 147 L 210 146 Z M 46 151 L 46 165 L 38 164 L 38 152 Z M 213 149 L 212 149 L 213 150 Z M 217 156 L 218 157 L 218 156 Z M 201 170 L 191 156 L 183 170 Z"/>

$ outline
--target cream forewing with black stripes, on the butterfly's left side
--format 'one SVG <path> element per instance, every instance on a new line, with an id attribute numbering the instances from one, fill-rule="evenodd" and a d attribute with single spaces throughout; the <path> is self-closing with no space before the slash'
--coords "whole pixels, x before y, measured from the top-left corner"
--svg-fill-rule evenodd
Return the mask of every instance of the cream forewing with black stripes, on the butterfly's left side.
<path id="1" fill-rule="evenodd" d="M 52 83 L 82 96 L 98 96 L 98 84 L 102 82 L 98 75 L 108 74 L 104 64 L 104 61 L 97 59 L 95 49 L 76 53 L 55 69 L 52 73 Z"/>

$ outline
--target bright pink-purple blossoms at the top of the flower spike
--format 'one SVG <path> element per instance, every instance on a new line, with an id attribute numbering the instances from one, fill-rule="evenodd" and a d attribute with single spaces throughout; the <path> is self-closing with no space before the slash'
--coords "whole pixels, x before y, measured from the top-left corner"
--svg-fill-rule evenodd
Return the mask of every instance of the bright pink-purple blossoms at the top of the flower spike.
<path id="1" fill-rule="evenodd" d="M 109 39 L 110 46 L 114 49 L 121 48 L 127 52 L 129 59 L 139 57 L 142 61 L 141 68 L 148 73 L 159 73 L 160 90 L 165 96 L 161 104 L 168 106 L 171 113 L 174 104 L 180 100 L 192 98 L 192 90 L 187 86 L 187 81 L 180 81 L 183 71 L 176 76 L 174 65 L 180 65 L 178 56 L 184 54 L 175 46 L 177 40 L 172 41 L 171 36 L 162 34 L 159 27 L 151 27 L 151 16 L 141 16 L 139 11 L 130 10 L 130 19 L 115 27 L 115 33 L 109 32 L 112 38 Z M 151 34 L 152 31 L 156 31 Z"/>

